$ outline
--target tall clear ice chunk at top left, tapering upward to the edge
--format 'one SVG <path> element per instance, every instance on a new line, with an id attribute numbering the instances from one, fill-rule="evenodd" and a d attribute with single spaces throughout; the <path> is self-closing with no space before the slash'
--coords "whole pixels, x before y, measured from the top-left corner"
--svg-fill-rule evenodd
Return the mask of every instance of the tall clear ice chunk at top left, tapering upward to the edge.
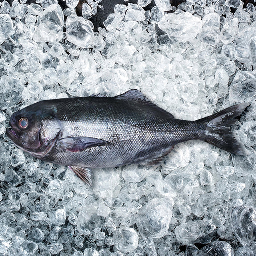
<path id="1" fill-rule="evenodd" d="M 58 4 L 52 4 L 38 15 L 38 28 L 33 39 L 36 42 L 55 42 L 63 38 L 64 15 Z"/>

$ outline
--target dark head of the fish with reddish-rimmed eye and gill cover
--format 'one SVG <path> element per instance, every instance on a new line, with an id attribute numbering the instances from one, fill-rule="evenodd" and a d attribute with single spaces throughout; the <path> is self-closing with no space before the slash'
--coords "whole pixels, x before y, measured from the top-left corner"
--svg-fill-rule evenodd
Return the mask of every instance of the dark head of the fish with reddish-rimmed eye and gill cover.
<path id="1" fill-rule="evenodd" d="M 52 148 L 60 132 L 59 126 L 52 125 L 54 108 L 44 107 L 41 102 L 13 113 L 9 122 L 11 128 L 6 129 L 7 136 L 17 147 L 38 158 Z"/>

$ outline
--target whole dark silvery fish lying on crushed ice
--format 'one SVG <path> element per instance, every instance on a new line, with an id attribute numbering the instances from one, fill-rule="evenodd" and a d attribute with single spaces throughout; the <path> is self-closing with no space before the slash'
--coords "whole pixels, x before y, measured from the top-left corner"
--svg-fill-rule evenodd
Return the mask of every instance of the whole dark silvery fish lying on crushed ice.
<path id="1" fill-rule="evenodd" d="M 23 151 L 69 166 L 91 185 L 93 168 L 158 164 L 176 144 L 193 139 L 246 155 L 231 127 L 247 107 L 241 103 L 187 121 L 131 89 L 114 97 L 39 101 L 13 113 L 6 134 Z"/>

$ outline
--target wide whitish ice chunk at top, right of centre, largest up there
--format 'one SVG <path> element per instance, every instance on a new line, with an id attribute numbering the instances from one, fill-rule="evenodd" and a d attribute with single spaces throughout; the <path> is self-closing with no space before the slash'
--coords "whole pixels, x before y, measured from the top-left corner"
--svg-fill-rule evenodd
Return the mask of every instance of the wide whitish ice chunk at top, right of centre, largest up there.
<path id="1" fill-rule="evenodd" d="M 168 13 L 159 22 L 159 28 L 170 38 L 187 42 L 193 40 L 202 31 L 202 20 L 189 12 Z"/>

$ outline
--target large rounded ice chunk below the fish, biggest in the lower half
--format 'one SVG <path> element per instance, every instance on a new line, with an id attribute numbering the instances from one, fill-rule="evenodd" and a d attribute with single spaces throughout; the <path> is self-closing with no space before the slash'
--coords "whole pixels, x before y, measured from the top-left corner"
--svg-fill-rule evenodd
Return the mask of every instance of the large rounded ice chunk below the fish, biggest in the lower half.
<path id="1" fill-rule="evenodd" d="M 171 205 L 166 199 L 152 199 L 138 211 L 137 226 L 142 236 L 161 238 L 168 233 L 172 217 Z"/>

